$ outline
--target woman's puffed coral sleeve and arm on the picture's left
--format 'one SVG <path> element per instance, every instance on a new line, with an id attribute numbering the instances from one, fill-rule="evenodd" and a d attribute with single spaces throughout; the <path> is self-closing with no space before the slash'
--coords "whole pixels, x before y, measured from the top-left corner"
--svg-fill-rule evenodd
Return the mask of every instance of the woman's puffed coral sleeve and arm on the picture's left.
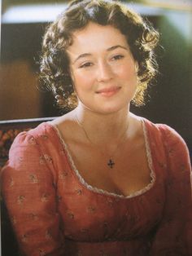
<path id="1" fill-rule="evenodd" d="M 50 165 L 33 136 L 22 133 L 2 169 L 2 196 L 24 255 L 59 255 L 62 246 Z"/>

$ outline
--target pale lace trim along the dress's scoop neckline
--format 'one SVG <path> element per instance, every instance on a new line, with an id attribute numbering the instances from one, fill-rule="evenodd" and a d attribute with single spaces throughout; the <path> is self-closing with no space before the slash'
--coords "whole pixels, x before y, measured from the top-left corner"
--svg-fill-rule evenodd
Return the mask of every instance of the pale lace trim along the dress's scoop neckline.
<path id="1" fill-rule="evenodd" d="M 59 142 L 63 146 L 64 152 L 66 152 L 66 156 L 68 158 L 68 164 L 70 166 L 70 169 L 72 170 L 72 173 L 75 175 L 78 182 L 81 183 L 81 186 L 83 186 L 84 188 L 88 189 L 91 192 L 98 193 L 98 194 L 101 194 L 104 196 L 112 196 L 112 197 L 121 198 L 121 199 L 129 199 L 129 198 L 133 198 L 136 196 L 142 196 L 144 193 L 150 191 L 151 188 L 154 187 L 155 181 L 156 181 L 156 174 L 155 174 L 154 164 L 153 164 L 153 160 L 152 160 L 151 147 L 150 147 L 150 143 L 149 143 L 148 132 L 146 129 L 145 118 L 141 117 L 141 121 L 142 121 L 142 130 L 143 130 L 145 148 L 146 148 L 146 159 L 147 159 L 148 167 L 151 170 L 151 174 L 150 174 L 151 181 L 144 188 L 139 189 L 136 192 L 133 192 L 127 196 L 124 196 L 123 194 L 116 194 L 115 192 L 108 192 L 107 190 L 94 187 L 94 186 L 90 185 L 89 183 L 87 183 L 85 181 L 85 179 L 81 176 L 80 172 L 77 170 L 76 165 L 72 159 L 71 153 L 69 152 L 68 144 L 65 143 L 58 126 L 53 125 L 50 121 L 47 121 L 46 124 L 50 125 L 51 128 L 55 131 L 55 134 L 57 135 Z"/>

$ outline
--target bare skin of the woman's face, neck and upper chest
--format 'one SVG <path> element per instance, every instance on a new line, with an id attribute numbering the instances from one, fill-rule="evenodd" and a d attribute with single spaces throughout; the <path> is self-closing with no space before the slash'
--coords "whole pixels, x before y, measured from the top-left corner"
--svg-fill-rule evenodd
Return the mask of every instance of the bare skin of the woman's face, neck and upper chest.
<path id="1" fill-rule="evenodd" d="M 77 170 L 87 183 L 109 192 L 129 195 L 145 188 L 151 171 L 142 122 L 129 113 L 137 88 L 137 62 L 124 35 L 110 25 L 89 23 L 73 33 L 67 52 L 78 106 L 53 124 L 68 144 Z M 107 167 L 110 156 L 116 160 L 112 171 Z"/>

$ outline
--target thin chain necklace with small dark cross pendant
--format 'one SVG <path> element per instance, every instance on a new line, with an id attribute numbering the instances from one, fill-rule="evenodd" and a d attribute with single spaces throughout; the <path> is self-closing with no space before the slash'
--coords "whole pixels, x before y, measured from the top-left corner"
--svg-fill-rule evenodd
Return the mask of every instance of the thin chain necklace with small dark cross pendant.
<path id="1" fill-rule="evenodd" d="M 88 136 L 88 134 L 87 134 L 87 132 L 86 132 L 84 126 L 82 125 L 81 121 L 79 121 L 79 119 L 78 119 L 77 117 L 76 117 L 76 122 L 77 122 L 77 124 L 81 127 L 81 129 L 84 131 L 85 137 L 89 140 L 89 143 L 91 143 L 91 144 L 94 145 L 94 147 L 95 147 L 96 144 L 91 141 L 91 139 L 89 138 L 89 136 Z M 115 154 L 116 150 L 120 147 L 120 144 L 122 143 L 122 141 L 123 141 L 123 139 L 124 139 L 124 135 L 125 135 L 126 131 L 128 130 L 128 128 L 129 128 L 129 123 L 128 123 L 128 125 L 126 126 L 126 129 L 124 130 L 123 134 L 120 136 L 120 142 L 117 144 L 116 149 L 111 153 L 111 156 L 109 157 L 109 159 L 108 159 L 108 161 L 107 161 L 107 166 L 108 166 L 109 168 L 111 168 L 111 169 L 113 168 L 113 166 L 116 165 L 116 162 L 113 160 L 113 157 L 112 157 L 112 156 Z"/>

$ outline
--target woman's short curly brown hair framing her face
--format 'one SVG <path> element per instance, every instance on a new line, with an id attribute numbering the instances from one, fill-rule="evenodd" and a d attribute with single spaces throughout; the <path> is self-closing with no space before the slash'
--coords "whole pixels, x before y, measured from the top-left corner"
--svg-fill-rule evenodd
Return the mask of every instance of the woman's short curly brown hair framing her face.
<path id="1" fill-rule="evenodd" d="M 40 83 L 55 95 L 61 108 L 76 107 L 76 95 L 69 72 L 68 46 L 72 33 L 83 29 L 89 22 L 112 25 L 119 29 L 137 61 L 138 85 L 133 104 L 144 104 L 146 89 L 157 73 L 155 46 L 159 33 L 141 15 L 124 4 L 111 0 L 75 0 L 46 29 L 40 60 Z"/>

